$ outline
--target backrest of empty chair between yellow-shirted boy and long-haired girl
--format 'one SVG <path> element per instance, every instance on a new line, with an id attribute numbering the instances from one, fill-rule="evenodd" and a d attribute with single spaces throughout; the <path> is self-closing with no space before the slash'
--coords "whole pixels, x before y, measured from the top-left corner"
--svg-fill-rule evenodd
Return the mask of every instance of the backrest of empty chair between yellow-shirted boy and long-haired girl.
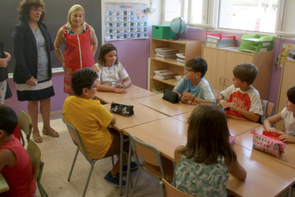
<path id="1" fill-rule="evenodd" d="M 130 143 L 133 148 L 133 151 L 135 151 L 135 153 L 138 156 L 140 156 L 140 158 L 142 158 L 144 161 L 154 166 L 159 166 L 161 169 L 162 177 L 165 178 L 165 173 L 162 167 L 160 151 L 157 150 L 157 147 L 152 146 L 149 143 L 144 143 L 143 141 L 138 140 L 138 138 L 135 138 L 133 134 L 129 134 L 129 138 L 130 138 Z"/>

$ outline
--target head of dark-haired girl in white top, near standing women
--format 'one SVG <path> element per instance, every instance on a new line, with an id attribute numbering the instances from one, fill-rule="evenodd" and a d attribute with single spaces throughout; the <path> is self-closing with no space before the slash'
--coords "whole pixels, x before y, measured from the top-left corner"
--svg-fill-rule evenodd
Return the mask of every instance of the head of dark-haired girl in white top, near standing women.
<path id="1" fill-rule="evenodd" d="M 96 61 L 102 66 L 109 66 L 108 64 L 118 64 L 119 59 L 117 55 L 117 48 L 115 48 L 113 44 L 103 44 L 99 50 L 98 59 L 96 59 Z"/>

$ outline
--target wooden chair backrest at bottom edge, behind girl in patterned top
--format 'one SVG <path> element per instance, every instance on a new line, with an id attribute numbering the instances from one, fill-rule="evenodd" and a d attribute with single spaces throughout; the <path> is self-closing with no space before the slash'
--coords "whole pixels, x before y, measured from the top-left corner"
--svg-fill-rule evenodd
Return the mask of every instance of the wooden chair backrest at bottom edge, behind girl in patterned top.
<path id="1" fill-rule="evenodd" d="M 162 178 L 162 181 L 160 181 L 160 191 L 162 197 L 190 197 L 191 195 L 188 193 L 184 193 L 183 191 L 180 191 L 179 189 L 173 187 L 170 183 L 165 181 L 164 178 Z"/>

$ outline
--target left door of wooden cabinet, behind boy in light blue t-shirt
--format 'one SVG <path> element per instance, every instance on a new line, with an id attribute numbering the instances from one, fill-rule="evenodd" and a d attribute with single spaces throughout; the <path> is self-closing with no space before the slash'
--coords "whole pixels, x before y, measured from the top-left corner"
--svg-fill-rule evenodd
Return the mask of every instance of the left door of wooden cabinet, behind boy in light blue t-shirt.
<path id="1" fill-rule="evenodd" d="M 222 91 L 224 80 L 226 51 L 220 49 L 203 48 L 203 58 L 207 61 L 208 70 L 205 79 L 210 84 L 211 89 Z"/>

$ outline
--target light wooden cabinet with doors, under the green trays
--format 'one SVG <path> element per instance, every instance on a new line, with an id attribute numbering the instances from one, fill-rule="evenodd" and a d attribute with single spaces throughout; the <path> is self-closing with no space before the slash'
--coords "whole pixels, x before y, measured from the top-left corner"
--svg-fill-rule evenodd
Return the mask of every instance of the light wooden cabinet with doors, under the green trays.
<path id="1" fill-rule="evenodd" d="M 259 91 L 260 98 L 267 100 L 272 56 L 273 51 L 249 54 L 238 51 L 237 47 L 218 49 L 202 46 L 202 57 L 208 64 L 205 79 L 209 81 L 211 89 L 222 91 L 232 85 L 234 66 L 240 63 L 252 63 L 258 68 L 258 76 L 253 86 Z"/>

